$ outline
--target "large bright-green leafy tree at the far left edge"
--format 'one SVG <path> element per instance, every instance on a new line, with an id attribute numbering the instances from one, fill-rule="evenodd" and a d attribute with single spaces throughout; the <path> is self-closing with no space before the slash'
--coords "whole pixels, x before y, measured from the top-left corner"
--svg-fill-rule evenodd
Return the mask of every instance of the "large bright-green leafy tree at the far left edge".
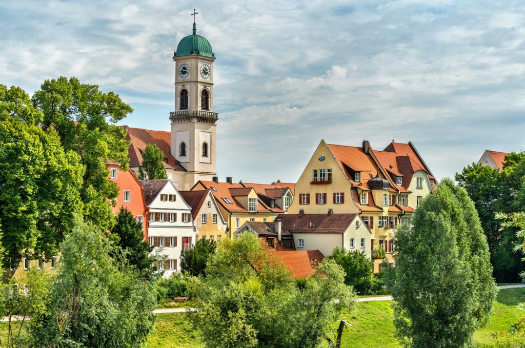
<path id="1" fill-rule="evenodd" d="M 82 209 L 83 166 L 55 130 L 36 125 L 42 117 L 25 92 L 0 85 L 2 262 L 11 268 L 22 257 L 56 255 Z"/>

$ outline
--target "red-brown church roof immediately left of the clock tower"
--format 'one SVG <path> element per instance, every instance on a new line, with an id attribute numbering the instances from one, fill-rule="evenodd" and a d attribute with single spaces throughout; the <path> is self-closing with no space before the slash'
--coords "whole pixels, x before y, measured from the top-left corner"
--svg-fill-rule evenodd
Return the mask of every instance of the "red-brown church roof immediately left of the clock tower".
<path id="1" fill-rule="evenodd" d="M 130 141 L 128 149 L 130 167 L 138 167 L 142 164 L 142 153 L 146 150 L 146 145 L 152 144 L 159 147 L 164 157 L 167 158 L 167 163 L 163 162 L 165 168 L 179 172 L 186 171 L 171 155 L 171 132 L 131 128 L 127 125 L 124 125 L 123 128 L 128 130 L 126 140 Z"/>

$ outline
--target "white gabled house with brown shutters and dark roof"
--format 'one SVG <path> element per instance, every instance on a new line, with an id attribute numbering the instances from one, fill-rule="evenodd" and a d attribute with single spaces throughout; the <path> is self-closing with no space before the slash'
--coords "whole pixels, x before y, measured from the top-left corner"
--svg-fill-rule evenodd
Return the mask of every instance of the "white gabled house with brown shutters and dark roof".
<path id="1" fill-rule="evenodd" d="M 195 226 L 191 207 L 170 180 L 144 180 L 144 198 L 148 207 L 148 240 L 153 253 L 166 257 L 159 265 L 164 276 L 180 271 L 181 251 L 192 248 Z"/>

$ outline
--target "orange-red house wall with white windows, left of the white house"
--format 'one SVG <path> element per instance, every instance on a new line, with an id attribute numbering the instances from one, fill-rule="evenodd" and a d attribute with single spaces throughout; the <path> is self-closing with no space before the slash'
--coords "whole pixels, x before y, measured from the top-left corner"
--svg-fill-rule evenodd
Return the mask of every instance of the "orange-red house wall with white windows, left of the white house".
<path id="1" fill-rule="evenodd" d="M 117 215 L 121 207 L 127 208 L 142 223 L 144 238 L 148 240 L 148 208 L 144 201 L 144 186 L 131 168 L 122 171 L 116 163 L 108 163 L 107 167 L 110 172 L 109 180 L 117 183 L 120 188 L 115 205 L 111 206 L 113 214 Z"/>

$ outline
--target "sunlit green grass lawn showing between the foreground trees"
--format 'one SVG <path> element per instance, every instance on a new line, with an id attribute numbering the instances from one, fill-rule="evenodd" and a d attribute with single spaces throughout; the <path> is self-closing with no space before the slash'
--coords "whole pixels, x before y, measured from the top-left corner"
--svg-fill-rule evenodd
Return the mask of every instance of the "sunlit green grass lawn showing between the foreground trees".
<path id="1" fill-rule="evenodd" d="M 525 315 L 517 308 L 517 304 L 525 302 L 525 288 L 500 290 L 490 321 L 486 328 L 474 334 L 474 340 L 482 347 L 488 348 L 496 344 L 491 334 L 508 332 L 512 323 Z M 342 319 L 352 326 L 343 333 L 344 348 L 393 348 L 401 347 L 395 339 L 394 323 L 390 301 L 356 302 L 351 313 L 343 313 Z M 499 339 L 506 342 L 507 338 Z M 155 332 L 149 337 L 148 347 L 204 347 L 198 332 L 191 329 L 184 313 L 158 314 Z"/>

